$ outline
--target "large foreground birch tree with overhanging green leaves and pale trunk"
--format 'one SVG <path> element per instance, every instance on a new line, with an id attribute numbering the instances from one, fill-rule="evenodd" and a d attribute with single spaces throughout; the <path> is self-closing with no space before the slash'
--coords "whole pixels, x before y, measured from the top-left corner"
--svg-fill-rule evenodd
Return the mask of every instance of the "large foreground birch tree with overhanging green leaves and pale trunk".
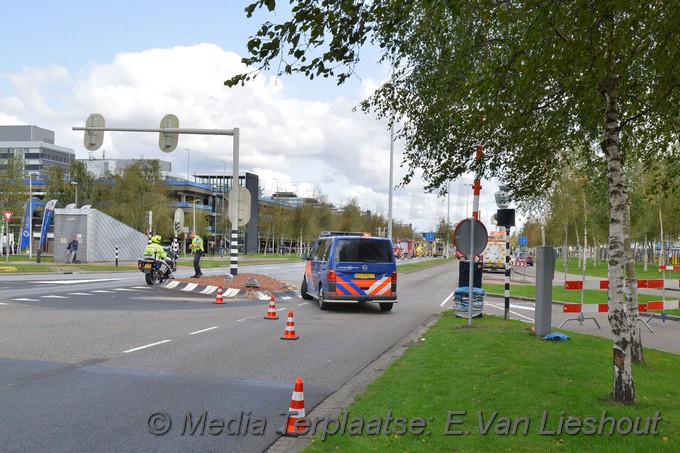
<path id="1" fill-rule="evenodd" d="M 678 138 L 680 15 L 653 0 L 300 0 L 288 21 L 248 42 L 250 72 L 301 73 L 342 83 L 372 44 L 390 79 L 362 104 L 401 118 L 410 173 L 426 188 L 473 173 L 496 176 L 515 198 L 545 192 L 575 159 L 606 165 L 612 399 L 635 398 L 624 302 L 626 161 L 670 152 Z M 276 9 L 275 0 L 246 7 Z M 484 158 L 475 159 L 478 148 Z M 515 177 L 521 175 L 521 178 Z"/>

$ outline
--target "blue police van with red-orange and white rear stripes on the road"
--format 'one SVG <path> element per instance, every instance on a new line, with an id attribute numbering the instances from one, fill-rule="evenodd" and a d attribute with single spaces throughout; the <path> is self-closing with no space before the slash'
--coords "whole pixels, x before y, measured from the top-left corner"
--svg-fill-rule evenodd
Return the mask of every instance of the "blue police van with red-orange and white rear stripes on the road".
<path id="1" fill-rule="evenodd" d="M 300 286 L 303 299 L 331 302 L 377 302 L 390 311 L 397 301 L 397 263 L 392 242 L 364 233 L 324 231 L 307 255 Z"/>

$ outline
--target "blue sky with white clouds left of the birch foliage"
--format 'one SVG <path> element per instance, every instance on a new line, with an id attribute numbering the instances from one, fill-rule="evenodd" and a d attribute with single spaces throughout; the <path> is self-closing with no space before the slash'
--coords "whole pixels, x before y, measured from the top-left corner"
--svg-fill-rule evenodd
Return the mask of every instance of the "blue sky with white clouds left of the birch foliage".
<path id="1" fill-rule="evenodd" d="M 260 177 L 265 195 L 325 194 L 342 206 L 387 215 L 390 134 L 385 122 L 352 111 L 387 75 L 370 49 L 354 78 L 276 79 L 262 74 L 245 87 L 223 85 L 243 72 L 249 36 L 268 14 L 247 19 L 242 0 L 9 1 L 0 29 L 0 124 L 33 124 L 55 131 L 56 144 L 87 158 L 83 132 L 90 113 L 109 127 L 156 128 L 167 113 L 180 127 L 240 129 L 241 171 Z M 282 4 L 287 2 L 282 2 Z M 189 150 L 189 151 L 187 151 Z M 394 145 L 394 183 L 401 182 L 403 145 Z M 158 158 L 174 174 L 232 168 L 232 139 L 183 135 L 169 154 L 152 133 L 107 132 L 94 158 Z M 452 222 L 472 210 L 472 177 L 451 182 Z M 426 193 L 422 181 L 395 189 L 393 217 L 420 232 L 447 217 L 447 199 Z M 481 220 L 497 207 L 497 183 L 482 181 Z M 466 213 L 467 208 L 467 213 Z"/>

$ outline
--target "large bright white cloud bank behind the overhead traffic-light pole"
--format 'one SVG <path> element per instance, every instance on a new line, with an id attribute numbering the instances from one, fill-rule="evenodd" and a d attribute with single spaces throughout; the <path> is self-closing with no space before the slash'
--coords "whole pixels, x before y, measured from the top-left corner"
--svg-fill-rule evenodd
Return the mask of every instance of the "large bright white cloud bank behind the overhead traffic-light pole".
<path id="1" fill-rule="evenodd" d="M 337 205 L 356 198 L 363 209 L 387 214 L 389 130 L 385 121 L 354 110 L 380 81 L 367 78 L 355 92 L 326 90 L 316 100 L 288 95 L 294 91 L 289 86 L 314 86 L 294 77 L 261 74 L 245 86 L 224 86 L 245 70 L 240 55 L 209 43 L 119 53 L 74 72 L 25 68 L 3 75 L 13 95 L 0 98 L 0 122 L 54 130 L 57 144 L 79 158 L 87 156 L 83 133 L 72 127 L 84 125 L 90 113 L 102 114 L 109 127 L 157 128 L 168 113 L 178 116 L 180 127 L 238 127 L 240 169 L 259 174 L 266 195 L 278 187 L 303 196 L 323 193 Z M 159 158 L 178 175 L 186 174 L 187 162 L 192 173 L 232 168 L 233 142 L 225 136 L 182 135 L 177 150 L 164 154 L 155 133 L 107 132 L 102 148 L 94 157 Z M 401 151 L 395 143 L 395 185 L 406 172 L 399 166 Z M 453 186 L 452 192 L 458 193 Z M 445 199 L 425 193 L 417 180 L 394 196 L 395 218 L 420 231 L 446 217 Z M 460 204 L 460 195 L 452 194 L 454 200 Z M 459 211 L 451 210 L 452 221 Z"/>

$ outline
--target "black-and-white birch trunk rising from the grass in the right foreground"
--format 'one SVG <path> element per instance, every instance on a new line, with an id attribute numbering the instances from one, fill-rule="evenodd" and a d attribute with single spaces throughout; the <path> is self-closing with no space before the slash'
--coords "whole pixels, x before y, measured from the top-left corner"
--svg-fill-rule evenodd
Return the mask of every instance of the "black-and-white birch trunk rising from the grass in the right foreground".
<path id="1" fill-rule="evenodd" d="M 613 58 L 610 56 L 610 58 Z M 611 64 L 611 63 L 610 63 Z M 619 137 L 618 90 L 616 81 L 607 80 L 602 88 L 606 100 L 605 139 L 601 146 L 607 159 L 609 182 L 609 324 L 612 328 L 614 384 L 611 398 L 619 403 L 632 404 L 635 383 L 631 364 L 631 333 L 628 310 L 623 300 L 624 223 L 626 183 L 621 166 Z"/>

